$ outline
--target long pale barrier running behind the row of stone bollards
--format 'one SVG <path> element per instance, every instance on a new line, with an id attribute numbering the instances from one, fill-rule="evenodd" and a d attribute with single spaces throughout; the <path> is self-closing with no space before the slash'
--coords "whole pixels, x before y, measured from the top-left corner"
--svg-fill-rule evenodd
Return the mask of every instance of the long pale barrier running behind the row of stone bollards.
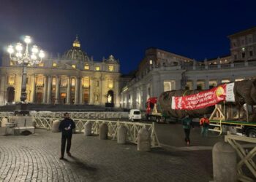
<path id="1" fill-rule="evenodd" d="M 53 121 L 59 118 L 50 118 L 50 117 L 38 117 L 34 116 L 34 122 L 36 123 L 37 128 L 48 129 L 52 127 Z M 117 138 L 117 130 L 120 125 L 127 127 L 127 140 L 131 143 L 138 143 L 138 132 L 140 128 L 146 127 L 148 132 L 151 133 L 151 147 L 159 147 L 159 140 L 157 138 L 157 132 L 153 124 L 144 124 L 139 122 L 119 122 L 119 121 L 107 121 L 107 120 L 98 120 L 98 119 L 75 119 L 75 130 L 77 132 L 84 132 L 84 125 L 86 122 L 91 122 L 91 132 L 93 134 L 99 134 L 99 125 L 102 123 L 108 124 L 108 136 L 115 140 Z"/>

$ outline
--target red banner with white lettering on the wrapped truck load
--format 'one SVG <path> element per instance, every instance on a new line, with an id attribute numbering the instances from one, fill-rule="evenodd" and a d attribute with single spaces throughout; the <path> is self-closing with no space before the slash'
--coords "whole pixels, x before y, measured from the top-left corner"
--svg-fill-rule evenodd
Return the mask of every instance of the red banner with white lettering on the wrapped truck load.
<path id="1" fill-rule="evenodd" d="M 214 106 L 226 98 L 226 84 L 193 95 L 172 98 L 172 109 L 194 110 Z"/>

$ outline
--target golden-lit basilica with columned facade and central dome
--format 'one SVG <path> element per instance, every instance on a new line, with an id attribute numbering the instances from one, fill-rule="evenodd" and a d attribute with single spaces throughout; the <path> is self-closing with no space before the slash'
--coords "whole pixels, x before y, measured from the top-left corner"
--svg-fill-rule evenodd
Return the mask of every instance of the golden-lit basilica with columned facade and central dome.
<path id="1" fill-rule="evenodd" d="M 119 106 L 119 69 L 113 55 L 102 61 L 89 58 L 76 37 L 62 56 L 28 65 L 26 102 Z M 23 65 L 4 56 L 0 74 L 0 105 L 19 102 Z"/>

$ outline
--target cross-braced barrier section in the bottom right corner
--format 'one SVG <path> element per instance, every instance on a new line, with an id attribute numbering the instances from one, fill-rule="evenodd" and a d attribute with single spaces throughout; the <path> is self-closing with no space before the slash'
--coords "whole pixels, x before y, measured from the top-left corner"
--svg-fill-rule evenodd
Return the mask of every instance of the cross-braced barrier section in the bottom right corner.
<path id="1" fill-rule="evenodd" d="M 227 133 L 225 135 L 225 142 L 230 143 L 231 146 L 233 146 L 234 149 L 236 149 L 236 152 L 238 156 L 240 157 L 240 161 L 237 164 L 237 172 L 238 172 L 238 180 L 239 181 L 256 181 L 256 165 L 253 161 L 253 157 L 256 156 L 256 145 L 251 147 L 251 150 L 248 151 L 247 148 L 244 149 L 243 146 L 241 146 L 238 142 L 246 142 L 246 143 L 256 143 L 255 138 L 249 138 L 245 136 L 238 136 L 238 135 L 230 135 Z M 255 176 L 254 179 L 249 178 L 246 176 L 242 170 L 242 167 L 247 167 L 249 171 L 252 173 L 252 175 Z"/>

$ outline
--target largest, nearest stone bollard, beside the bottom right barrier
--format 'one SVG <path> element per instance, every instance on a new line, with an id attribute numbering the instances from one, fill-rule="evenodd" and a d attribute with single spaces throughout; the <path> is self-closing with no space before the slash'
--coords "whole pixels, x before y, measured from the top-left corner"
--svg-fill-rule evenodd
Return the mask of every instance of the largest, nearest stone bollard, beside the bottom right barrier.
<path id="1" fill-rule="evenodd" d="M 214 182 L 237 181 L 236 150 L 229 143 L 218 142 L 212 149 Z"/>

